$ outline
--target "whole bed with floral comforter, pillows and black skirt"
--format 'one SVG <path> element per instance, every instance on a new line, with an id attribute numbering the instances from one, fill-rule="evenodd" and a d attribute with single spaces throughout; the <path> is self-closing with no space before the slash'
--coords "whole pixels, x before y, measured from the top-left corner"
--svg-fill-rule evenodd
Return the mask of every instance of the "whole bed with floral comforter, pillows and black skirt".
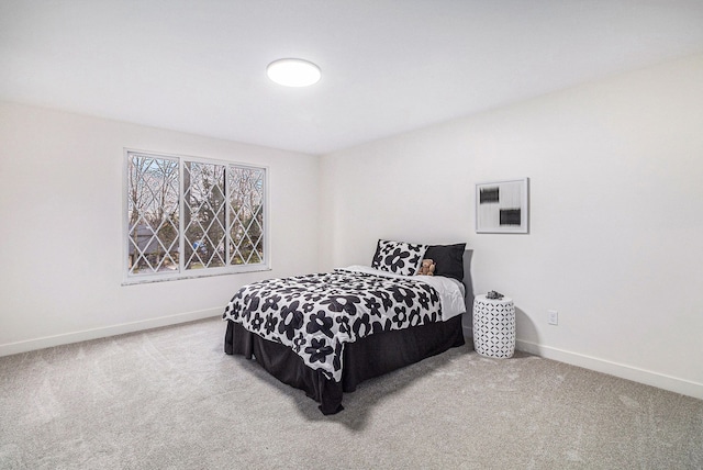
<path id="1" fill-rule="evenodd" d="M 465 344 L 465 247 L 380 239 L 371 266 L 244 286 L 223 314 L 225 352 L 338 413 L 364 380 Z M 415 276 L 423 259 L 434 276 Z"/>

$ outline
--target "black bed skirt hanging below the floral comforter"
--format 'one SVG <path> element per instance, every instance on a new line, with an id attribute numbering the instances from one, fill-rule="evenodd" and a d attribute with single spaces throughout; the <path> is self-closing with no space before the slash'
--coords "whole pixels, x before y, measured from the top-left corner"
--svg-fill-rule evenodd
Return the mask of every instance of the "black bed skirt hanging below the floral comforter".
<path id="1" fill-rule="evenodd" d="M 446 322 L 371 335 L 345 345 L 342 382 L 310 369 L 287 346 L 264 339 L 232 321 L 227 321 L 224 351 L 256 358 L 278 380 L 303 390 L 319 402 L 323 414 L 334 414 L 344 410 L 343 393 L 355 391 L 362 381 L 464 344 L 461 315 Z"/>

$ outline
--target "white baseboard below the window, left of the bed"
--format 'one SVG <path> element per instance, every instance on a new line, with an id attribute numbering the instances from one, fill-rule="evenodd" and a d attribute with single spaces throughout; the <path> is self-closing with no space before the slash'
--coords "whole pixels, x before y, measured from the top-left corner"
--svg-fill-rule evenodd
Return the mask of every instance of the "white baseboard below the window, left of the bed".
<path id="1" fill-rule="evenodd" d="M 0 357 L 13 354 L 26 352 L 35 349 L 51 348 L 54 346 L 68 345 L 71 343 L 87 342 L 90 339 L 105 338 L 109 336 L 123 335 L 125 333 L 141 332 L 144 329 L 158 328 L 161 326 L 176 325 L 178 323 L 192 322 L 196 320 L 221 316 L 222 309 L 208 309 L 197 312 L 186 312 L 176 315 L 159 316 L 157 318 L 142 320 L 138 322 L 121 323 L 118 325 L 101 328 L 83 329 L 81 332 L 66 333 L 56 336 L 45 336 L 43 338 L 27 339 L 24 342 L 8 343 L 0 345 Z"/>

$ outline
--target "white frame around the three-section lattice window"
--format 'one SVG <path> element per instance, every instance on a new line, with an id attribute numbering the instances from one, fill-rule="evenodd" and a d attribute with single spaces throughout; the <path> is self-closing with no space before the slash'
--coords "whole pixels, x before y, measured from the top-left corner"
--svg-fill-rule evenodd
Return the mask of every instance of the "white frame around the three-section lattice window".
<path id="1" fill-rule="evenodd" d="M 179 231 L 179 239 L 178 239 L 178 250 L 180 256 L 178 257 L 178 268 L 172 272 L 157 271 L 157 272 L 147 272 L 147 273 L 131 273 L 130 272 L 130 188 L 129 188 L 129 171 L 130 171 L 130 159 L 131 155 L 138 154 L 144 156 L 149 156 L 154 158 L 165 158 L 178 161 L 178 179 L 179 179 L 179 221 L 178 221 L 178 231 Z M 264 171 L 264 191 L 263 191 L 263 206 L 264 206 L 264 216 L 263 222 L 264 226 L 261 227 L 263 235 L 263 245 L 264 245 L 264 259 L 261 262 L 256 264 L 244 264 L 244 265 L 230 265 L 224 267 L 214 267 L 214 268 L 202 268 L 202 269 L 186 269 L 186 256 L 185 256 L 185 165 L 186 161 L 189 163 L 199 163 L 207 165 L 221 165 L 225 166 L 225 168 L 230 166 L 235 166 L 237 168 L 250 168 L 256 170 Z M 225 211 L 228 212 L 228 199 L 230 199 L 230 188 L 226 188 L 226 198 L 225 198 Z M 270 198 L 269 198 L 269 168 L 260 165 L 250 165 L 250 164 L 242 164 L 238 161 L 230 161 L 230 160 L 221 160 L 214 158 L 203 158 L 203 157 L 192 157 L 188 155 L 177 155 L 177 154 L 165 154 L 157 153 L 150 150 L 140 150 L 135 148 L 124 148 L 124 167 L 123 167 L 123 194 L 122 194 L 122 203 L 123 203 L 123 228 L 122 228 L 122 264 L 123 264 L 123 286 L 131 284 L 142 284 L 148 282 L 161 282 L 161 281 L 171 281 L 179 279 L 194 279 L 194 278 L 204 278 L 212 276 L 223 276 L 223 275 L 234 275 L 241 272 L 255 272 L 255 271 L 268 271 L 271 269 L 270 266 L 270 224 L 269 224 L 269 212 L 270 212 Z M 227 238 L 228 238 L 228 231 Z"/>

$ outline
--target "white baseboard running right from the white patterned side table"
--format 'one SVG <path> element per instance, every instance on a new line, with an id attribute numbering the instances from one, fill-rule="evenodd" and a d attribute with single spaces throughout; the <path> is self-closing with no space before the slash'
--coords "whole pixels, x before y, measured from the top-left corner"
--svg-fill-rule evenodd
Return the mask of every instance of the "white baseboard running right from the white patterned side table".
<path id="1" fill-rule="evenodd" d="M 560 362 L 570 363 L 572 366 L 582 367 L 584 369 L 607 373 L 610 376 L 620 377 L 621 379 L 632 380 L 634 382 L 703 400 L 703 383 L 691 382 L 689 380 L 678 379 L 676 377 L 520 339 L 516 342 L 515 347 L 518 350 L 534 354 L 546 359 L 558 360 Z"/>

